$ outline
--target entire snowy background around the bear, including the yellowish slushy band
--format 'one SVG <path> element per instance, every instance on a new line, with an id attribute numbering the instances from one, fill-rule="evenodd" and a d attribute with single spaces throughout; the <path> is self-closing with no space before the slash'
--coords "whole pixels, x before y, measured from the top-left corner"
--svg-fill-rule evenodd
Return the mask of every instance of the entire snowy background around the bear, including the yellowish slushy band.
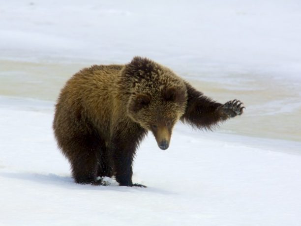
<path id="1" fill-rule="evenodd" d="M 300 226 L 301 1 L 0 5 L 0 226 Z M 137 55 L 247 111 L 214 132 L 179 123 L 166 151 L 150 135 L 133 175 L 148 188 L 75 184 L 53 100 L 77 69 Z"/>

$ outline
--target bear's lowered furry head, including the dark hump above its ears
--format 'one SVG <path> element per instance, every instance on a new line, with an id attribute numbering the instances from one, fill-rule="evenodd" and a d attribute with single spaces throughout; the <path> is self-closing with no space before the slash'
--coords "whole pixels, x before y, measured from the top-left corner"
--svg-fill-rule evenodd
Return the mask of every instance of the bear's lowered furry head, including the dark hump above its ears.
<path id="1" fill-rule="evenodd" d="M 173 127 L 185 112 L 184 81 L 170 69 L 142 57 L 126 64 L 123 76 L 131 81 L 128 116 L 151 131 L 161 149 L 167 149 Z"/>

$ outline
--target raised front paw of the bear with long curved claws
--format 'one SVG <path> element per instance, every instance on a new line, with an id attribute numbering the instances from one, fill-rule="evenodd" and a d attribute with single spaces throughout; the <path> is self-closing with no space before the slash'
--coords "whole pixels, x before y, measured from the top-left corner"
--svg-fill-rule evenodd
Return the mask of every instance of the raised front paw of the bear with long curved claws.
<path id="1" fill-rule="evenodd" d="M 243 113 L 243 103 L 240 100 L 231 100 L 218 108 L 222 119 L 232 118 Z"/>

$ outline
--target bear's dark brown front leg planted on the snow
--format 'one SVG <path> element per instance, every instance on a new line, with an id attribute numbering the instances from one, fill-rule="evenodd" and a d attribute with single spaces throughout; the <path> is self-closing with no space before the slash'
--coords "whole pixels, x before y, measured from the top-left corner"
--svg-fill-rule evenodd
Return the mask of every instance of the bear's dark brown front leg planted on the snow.
<path id="1" fill-rule="evenodd" d="M 135 127 L 130 129 L 130 131 L 116 132 L 115 138 L 112 139 L 111 153 L 113 155 L 115 177 L 120 186 L 146 187 L 132 182 L 133 159 L 139 142 L 145 136 L 146 131 Z"/>

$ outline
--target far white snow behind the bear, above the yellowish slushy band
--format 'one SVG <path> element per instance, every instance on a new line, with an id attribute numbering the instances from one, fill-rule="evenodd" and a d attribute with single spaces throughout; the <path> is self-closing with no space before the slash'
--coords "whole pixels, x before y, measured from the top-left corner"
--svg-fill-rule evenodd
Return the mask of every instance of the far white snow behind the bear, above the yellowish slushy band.
<path id="1" fill-rule="evenodd" d="M 301 78 L 299 0 L 0 2 L 1 58 L 124 63 L 141 55 L 190 73 Z"/>

